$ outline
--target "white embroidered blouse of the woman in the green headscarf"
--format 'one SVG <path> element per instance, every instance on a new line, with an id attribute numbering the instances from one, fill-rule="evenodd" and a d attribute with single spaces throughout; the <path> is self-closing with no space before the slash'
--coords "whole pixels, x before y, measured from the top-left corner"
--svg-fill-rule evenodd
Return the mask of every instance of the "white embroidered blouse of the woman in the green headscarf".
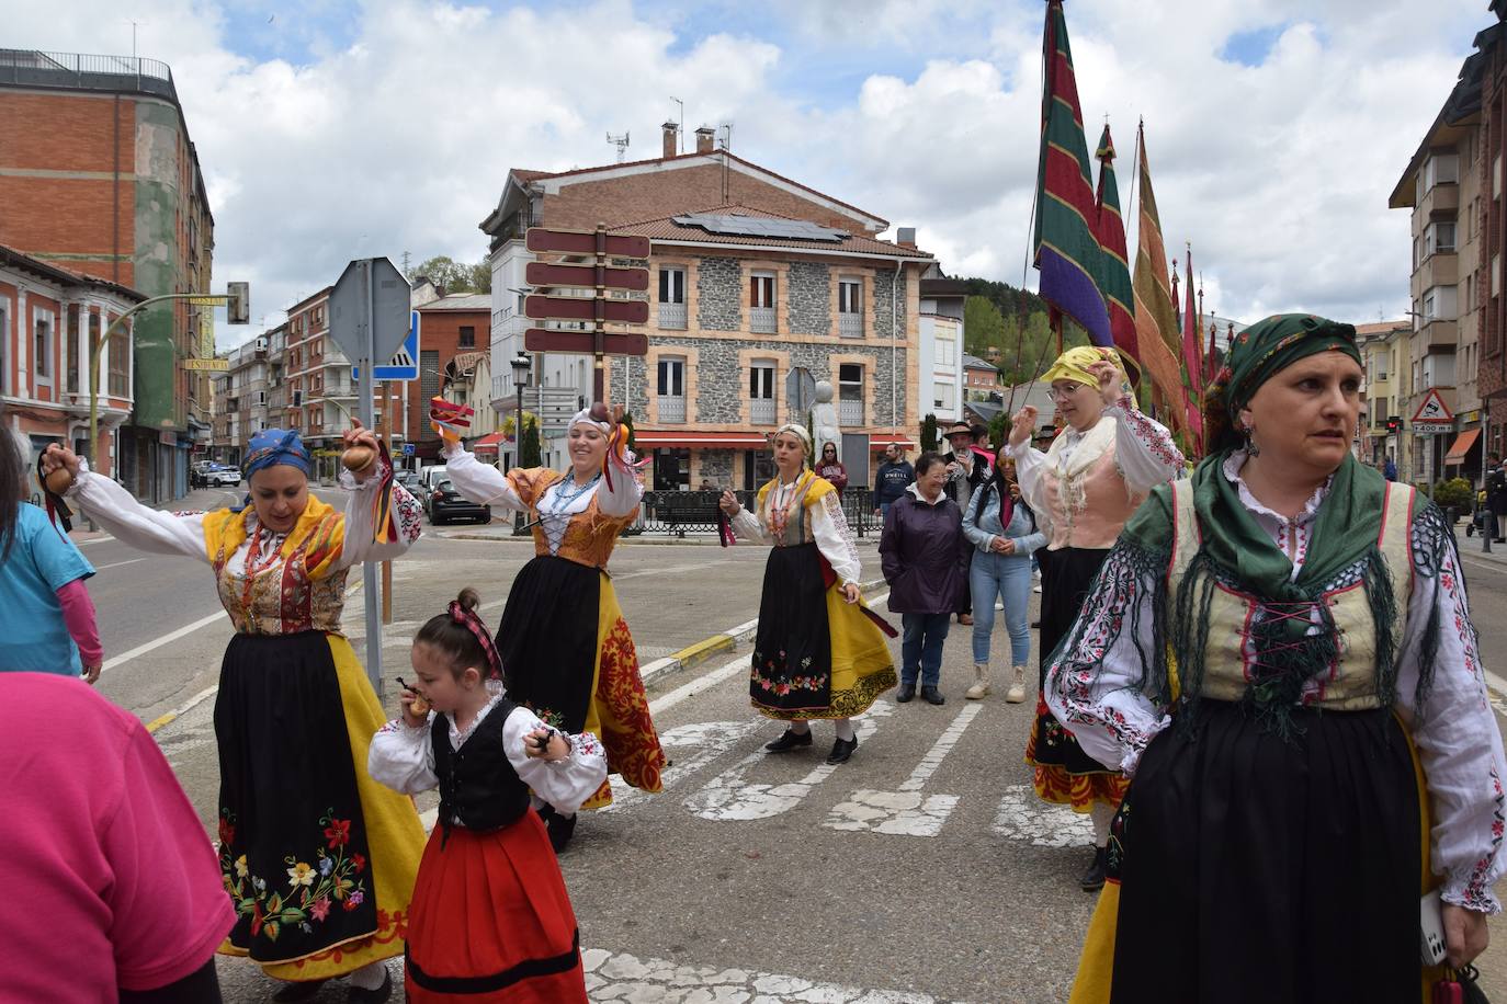
<path id="1" fill-rule="evenodd" d="M 1224 476 L 1239 489 L 1257 525 L 1293 557 L 1296 577 L 1329 483 L 1314 492 L 1296 519 L 1288 519 L 1249 492 L 1240 477 L 1245 459 L 1245 453 L 1233 455 L 1222 468 Z M 1417 549 L 1414 566 L 1418 566 Z M 1151 650 L 1154 589 L 1147 584 L 1135 599 L 1127 599 L 1109 595 L 1118 589 L 1111 580 L 1120 581 L 1109 575 L 1099 580 L 1099 592 L 1084 601 L 1084 616 L 1120 619 L 1121 628 L 1109 631 L 1106 623 L 1100 631 L 1090 620 L 1079 646 L 1064 650 L 1047 671 L 1046 703 L 1088 756 L 1132 774 L 1147 745 L 1172 720 L 1166 707 L 1136 685 L 1142 679 L 1141 652 Z M 1132 611 L 1132 605 L 1139 610 Z M 1415 706 L 1420 649 L 1432 607 L 1438 608 L 1441 625 L 1433 652 L 1435 677 L 1424 706 Z M 1139 635 L 1132 634 L 1130 625 L 1139 626 Z M 1099 650 L 1096 638 L 1109 635 L 1109 646 Z M 1501 905 L 1492 885 L 1507 873 L 1507 853 L 1501 847 L 1507 826 L 1502 787 L 1507 760 L 1454 546 L 1445 548 L 1438 577 L 1414 575 L 1397 659 L 1394 706 L 1412 732 L 1429 784 L 1432 866 L 1436 875 L 1445 876 L 1441 894 L 1448 903 L 1496 914 Z"/>

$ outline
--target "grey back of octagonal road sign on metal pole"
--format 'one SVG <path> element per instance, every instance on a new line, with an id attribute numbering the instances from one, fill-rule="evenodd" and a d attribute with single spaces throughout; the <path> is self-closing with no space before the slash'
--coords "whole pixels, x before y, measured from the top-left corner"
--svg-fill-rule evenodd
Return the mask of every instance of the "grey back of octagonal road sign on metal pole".
<path id="1" fill-rule="evenodd" d="M 372 427 L 377 373 L 374 366 L 392 355 L 407 340 L 411 328 L 411 289 L 386 257 L 362 257 L 345 266 L 330 291 L 330 337 L 345 358 L 360 367 L 360 420 Z M 375 372 L 374 372 L 375 370 Z M 383 580 L 390 572 L 384 569 Z M 377 566 L 362 566 L 366 592 L 366 676 L 381 694 L 381 613 L 377 607 Z"/>

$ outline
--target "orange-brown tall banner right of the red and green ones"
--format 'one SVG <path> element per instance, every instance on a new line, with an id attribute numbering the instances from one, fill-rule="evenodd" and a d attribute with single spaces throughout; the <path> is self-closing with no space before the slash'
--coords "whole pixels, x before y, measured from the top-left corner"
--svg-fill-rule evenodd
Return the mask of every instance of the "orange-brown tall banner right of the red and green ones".
<path id="1" fill-rule="evenodd" d="M 1136 348 L 1141 351 L 1141 366 L 1151 378 L 1162 403 L 1166 405 L 1169 429 L 1189 432 L 1188 409 L 1183 406 L 1183 373 L 1177 363 L 1180 345 L 1177 336 L 1177 306 L 1172 303 L 1172 286 L 1166 277 L 1166 245 L 1162 242 L 1162 220 L 1156 212 L 1156 194 L 1151 191 L 1151 169 L 1145 160 L 1145 126 L 1139 126 L 1141 151 L 1139 199 L 1141 211 L 1136 224 L 1135 250 L 1135 330 Z"/>

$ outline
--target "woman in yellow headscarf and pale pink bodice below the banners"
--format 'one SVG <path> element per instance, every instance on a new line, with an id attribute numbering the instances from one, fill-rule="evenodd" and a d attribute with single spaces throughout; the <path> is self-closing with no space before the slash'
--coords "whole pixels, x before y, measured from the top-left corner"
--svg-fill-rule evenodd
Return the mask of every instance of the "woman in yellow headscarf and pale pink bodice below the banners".
<path id="1" fill-rule="evenodd" d="M 1047 546 L 1035 552 L 1041 563 L 1038 685 L 1126 519 L 1153 486 L 1183 474 L 1183 455 L 1165 427 L 1136 409 L 1114 349 L 1068 349 L 1043 379 L 1064 429 L 1044 453 L 1032 449 L 1037 409 L 1028 405 L 1014 417 L 1008 449 L 1026 504 L 1047 534 Z M 1040 697 L 1026 763 L 1035 769 L 1037 796 L 1093 817 L 1094 858 L 1079 885 L 1102 888 L 1109 820 L 1126 780 L 1114 765 L 1087 756 Z"/>

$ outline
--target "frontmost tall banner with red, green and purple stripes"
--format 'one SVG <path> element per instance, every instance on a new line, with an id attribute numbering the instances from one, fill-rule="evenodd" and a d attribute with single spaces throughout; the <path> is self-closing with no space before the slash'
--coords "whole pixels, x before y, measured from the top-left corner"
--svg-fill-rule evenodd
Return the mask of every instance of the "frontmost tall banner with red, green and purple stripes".
<path id="1" fill-rule="evenodd" d="M 1040 295 L 1053 313 L 1078 321 L 1090 342 L 1112 346 L 1109 309 L 1100 292 L 1103 248 L 1094 229 L 1099 218 L 1094 175 L 1084 138 L 1084 114 L 1078 107 L 1062 0 L 1047 3 L 1041 48 L 1046 78 L 1034 244 L 1035 266 L 1041 271 Z"/>

